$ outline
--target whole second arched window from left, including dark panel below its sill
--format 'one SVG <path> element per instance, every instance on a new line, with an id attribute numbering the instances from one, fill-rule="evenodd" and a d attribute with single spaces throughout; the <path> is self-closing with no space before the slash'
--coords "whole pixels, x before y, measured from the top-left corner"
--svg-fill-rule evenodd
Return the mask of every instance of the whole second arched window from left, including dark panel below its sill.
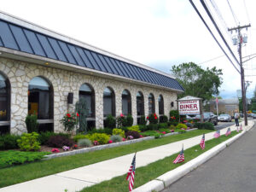
<path id="1" fill-rule="evenodd" d="M 42 77 L 28 85 L 28 114 L 38 115 L 39 131 L 53 131 L 53 88 Z"/>

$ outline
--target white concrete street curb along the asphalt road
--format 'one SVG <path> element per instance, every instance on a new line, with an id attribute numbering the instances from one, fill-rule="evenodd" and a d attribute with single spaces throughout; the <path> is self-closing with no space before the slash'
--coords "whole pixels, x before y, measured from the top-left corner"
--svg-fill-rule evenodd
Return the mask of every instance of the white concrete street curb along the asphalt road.
<path id="1" fill-rule="evenodd" d="M 193 171 L 198 166 L 201 166 L 201 164 L 205 163 L 207 160 L 211 159 L 213 156 L 215 156 L 216 154 L 224 150 L 224 148 L 227 148 L 231 143 L 235 142 L 236 139 L 238 139 L 247 131 L 249 131 L 253 127 L 253 125 L 247 128 L 247 130 L 242 131 L 241 134 L 231 137 L 230 139 L 226 140 L 224 143 L 218 144 L 214 148 L 211 148 L 210 150 L 199 155 L 195 159 L 190 160 L 183 166 L 178 166 L 176 169 L 170 172 L 166 172 L 160 177 L 157 177 L 154 180 L 143 184 L 142 186 L 138 187 L 137 189 L 134 189 L 133 191 L 134 192 L 152 192 L 152 191 L 161 191 L 165 189 L 167 186 L 176 182 L 179 178 Z"/>

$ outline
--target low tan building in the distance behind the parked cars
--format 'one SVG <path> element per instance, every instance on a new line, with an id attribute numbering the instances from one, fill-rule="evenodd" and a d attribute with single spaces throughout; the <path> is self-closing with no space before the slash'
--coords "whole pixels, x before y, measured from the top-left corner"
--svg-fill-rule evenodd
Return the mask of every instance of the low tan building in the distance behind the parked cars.
<path id="1" fill-rule="evenodd" d="M 210 101 L 210 111 L 217 113 L 216 100 Z M 239 101 L 237 98 L 234 99 L 219 99 L 218 100 L 218 113 L 228 113 L 231 116 L 239 111 Z"/>

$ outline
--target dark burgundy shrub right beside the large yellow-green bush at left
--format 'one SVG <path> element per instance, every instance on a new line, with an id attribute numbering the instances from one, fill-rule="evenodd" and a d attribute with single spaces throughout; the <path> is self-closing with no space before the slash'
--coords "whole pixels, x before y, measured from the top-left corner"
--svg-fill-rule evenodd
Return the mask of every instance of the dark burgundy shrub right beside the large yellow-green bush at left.
<path id="1" fill-rule="evenodd" d="M 49 137 L 49 141 L 46 143 L 46 145 L 53 148 L 62 148 L 64 145 L 72 147 L 73 140 L 64 136 L 57 135 Z"/>

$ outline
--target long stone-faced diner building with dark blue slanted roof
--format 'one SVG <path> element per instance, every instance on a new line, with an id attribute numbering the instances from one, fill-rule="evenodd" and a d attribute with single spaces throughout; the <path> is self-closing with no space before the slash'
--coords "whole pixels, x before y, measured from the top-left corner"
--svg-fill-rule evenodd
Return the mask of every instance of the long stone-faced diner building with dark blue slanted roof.
<path id="1" fill-rule="evenodd" d="M 0 133 L 26 132 L 32 113 L 40 131 L 63 131 L 79 97 L 90 127 L 120 113 L 136 125 L 150 113 L 169 116 L 181 92 L 168 73 L 0 12 Z"/>

